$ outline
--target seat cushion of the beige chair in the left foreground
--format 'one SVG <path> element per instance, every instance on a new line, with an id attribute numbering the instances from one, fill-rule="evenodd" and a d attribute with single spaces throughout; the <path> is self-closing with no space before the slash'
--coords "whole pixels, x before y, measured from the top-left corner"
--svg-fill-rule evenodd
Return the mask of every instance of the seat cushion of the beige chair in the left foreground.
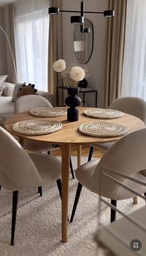
<path id="1" fill-rule="evenodd" d="M 61 161 L 44 153 L 28 153 L 41 178 L 41 185 L 49 184 L 61 178 Z"/>

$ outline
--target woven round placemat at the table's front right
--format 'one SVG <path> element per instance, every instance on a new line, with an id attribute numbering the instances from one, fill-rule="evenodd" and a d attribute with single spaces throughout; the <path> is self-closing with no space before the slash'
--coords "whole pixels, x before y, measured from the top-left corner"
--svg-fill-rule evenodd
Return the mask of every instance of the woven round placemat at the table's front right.
<path id="1" fill-rule="evenodd" d="M 116 137 L 126 135 L 129 128 L 118 123 L 109 123 L 106 121 L 85 123 L 79 126 L 80 133 L 97 137 Z"/>

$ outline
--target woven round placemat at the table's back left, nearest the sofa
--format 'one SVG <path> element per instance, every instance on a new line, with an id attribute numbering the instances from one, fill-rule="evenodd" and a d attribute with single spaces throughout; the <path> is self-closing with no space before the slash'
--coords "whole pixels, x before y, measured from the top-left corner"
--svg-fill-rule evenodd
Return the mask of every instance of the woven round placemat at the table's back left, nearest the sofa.
<path id="1" fill-rule="evenodd" d="M 61 108 L 35 108 L 30 110 L 30 115 L 40 117 L 64 116 L 66 113 L 67 111 L 62 110 Z"/>

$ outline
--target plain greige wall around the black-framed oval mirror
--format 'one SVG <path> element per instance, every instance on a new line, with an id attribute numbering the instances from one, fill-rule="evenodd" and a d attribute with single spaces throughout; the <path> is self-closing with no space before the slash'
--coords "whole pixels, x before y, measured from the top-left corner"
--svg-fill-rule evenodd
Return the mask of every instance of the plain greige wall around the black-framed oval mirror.
<path id="1" fill-rule="evenodd" d="M 84 0 L 84 4 L 85 11 L 105 11 L 108 9 L 108 0 Z M 80 11 L 80 1 L 62 0 L 62 9 Z M 74 15 L 77 14 L 65 12 L 62 14 L 63 59 L 66 60 L 67 65 L 71 63 L 79 64 L 75 58 L 73 48 L 74 24 L 70 23 L 70 17 Z M 94 30 L 92 57 L 87 63 L 88 72 L 90 73 L 90 77 L 87 78 L 88 87 L 92 87 L 95 90 L 98 90 L 98 107 L 100 107 L 103 52 L 108 18 L 104 17 L 103 14 L 85 14 L 85 18 L 92 22 Z M 94 107 L 92 95 L 92 93 L 87 95 L 87 105 Z"/>

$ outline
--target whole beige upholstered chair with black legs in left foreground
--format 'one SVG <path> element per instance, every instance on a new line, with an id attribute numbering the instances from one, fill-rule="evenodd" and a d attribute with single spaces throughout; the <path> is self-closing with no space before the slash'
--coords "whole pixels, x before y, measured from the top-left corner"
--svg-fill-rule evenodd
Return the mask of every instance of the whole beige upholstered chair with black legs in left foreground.
<path id="1" fill-rule="evenodd" d="M 0 184 L 5 189 L 13 191 L 11 230 L 11 245 L 13 245 L 19 191 L 57 181 L 61 195 L 61 162 L 48 154 L 27 154 L 18 141 L 2 127 L 0 127 L 0 141 Z"/>

